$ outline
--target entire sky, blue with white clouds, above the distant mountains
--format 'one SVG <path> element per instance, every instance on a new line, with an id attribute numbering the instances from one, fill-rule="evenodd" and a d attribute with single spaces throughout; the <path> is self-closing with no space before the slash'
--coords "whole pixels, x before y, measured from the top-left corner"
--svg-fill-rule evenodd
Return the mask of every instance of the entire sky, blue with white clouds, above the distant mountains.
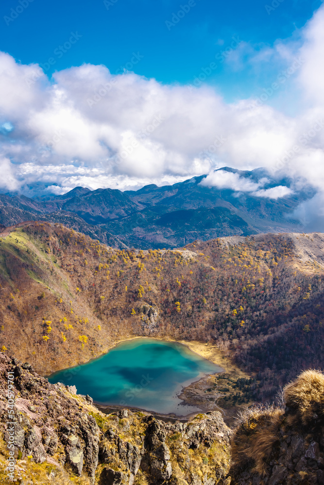
<path id="1" fill-rule="evenodd" d="M 1 192 L 209 174 L 273 198 L 214 173 L 265 167 L 293 192 L 314 187 L 301 211 L 324 213 L 321 1 L 3 0 L 0 12 Z"/>

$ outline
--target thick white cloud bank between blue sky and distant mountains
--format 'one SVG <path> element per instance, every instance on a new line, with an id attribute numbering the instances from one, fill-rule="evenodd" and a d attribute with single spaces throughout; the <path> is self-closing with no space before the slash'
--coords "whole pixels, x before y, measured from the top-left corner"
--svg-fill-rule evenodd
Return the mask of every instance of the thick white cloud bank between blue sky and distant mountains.
<path id="1" fill-rule="evenodd" d="M 131 72 L 112 75 L 103 65 L 55 72 L 22 65 L 0 54 L 1 190 L 35 182 L 58 184 L 62 194 L 82 185 L 139 188 L 210 173 L 205 183 L 282 197 L 287 187 L 263 190 L 235 174 L 218 172 L 265 167 L 324 187 L 324 7 L 298 33 L 258 54 L 256 65 L 285 65 L 254 99 L 227 104 L 216 90 L 163 85 Z M 246 56 L 239 47 L 233 62 Z M 296 93 L 295 115 L 269 105 L 284 82 Z M 227 185 L 226 185 L 227 184 Z M 321 199 L 322 200 L 322 199 Z"/>

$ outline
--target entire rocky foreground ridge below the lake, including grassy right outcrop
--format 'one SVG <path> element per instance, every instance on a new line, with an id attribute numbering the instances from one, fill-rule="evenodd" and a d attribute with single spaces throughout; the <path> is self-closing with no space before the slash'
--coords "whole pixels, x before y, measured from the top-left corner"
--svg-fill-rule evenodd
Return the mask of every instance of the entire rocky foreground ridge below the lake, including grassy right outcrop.
<path id="1" fill-rule="evenodd" d="M 285 409 L 247 409 L 232 432 L 216 411 L 188 422 L 105 415 L 74 386 L 52 385 L 0 353 L 0 483 L 13 469 L 12 392 L 20 485 L 324 485 L 322 372 L 287 386 Z"/>

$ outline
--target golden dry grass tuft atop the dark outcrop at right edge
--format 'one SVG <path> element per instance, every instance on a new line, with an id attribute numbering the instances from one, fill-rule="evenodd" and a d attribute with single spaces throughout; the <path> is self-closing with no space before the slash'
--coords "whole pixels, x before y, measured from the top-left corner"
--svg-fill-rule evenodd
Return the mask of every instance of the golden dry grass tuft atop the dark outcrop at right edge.
<path id="1" fill-rule="evenodd" d="M 316 370 L 302 372 L 284 388 L 288 409 L 288 422 L 296 420 L 308 424 L 324 418 L 324 373 Z"/>

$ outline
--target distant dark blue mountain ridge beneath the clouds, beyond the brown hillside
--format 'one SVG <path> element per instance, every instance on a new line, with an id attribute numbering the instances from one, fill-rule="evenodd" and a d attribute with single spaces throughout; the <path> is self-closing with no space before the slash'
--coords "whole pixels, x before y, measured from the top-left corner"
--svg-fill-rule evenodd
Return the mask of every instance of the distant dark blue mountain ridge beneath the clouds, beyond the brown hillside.
<path id="1" fill-rule="evenodd" d="M 265 191 L 278 186 L 290 188 L 292 183 L 289 178 L 273 178 L 263 168 L 220 170 L 237 174 L 242 184 L 248 181 L 256 185 L 262 180 Z M 314 195 L 312 189 L 271 199 L 253 192 L 202 185 L 206 177 L 162 187 L 150 184 L 137 191 L 75 187 L 67 194 L 33 199 L 0 194 L 0 224 L 12 226 L 43 219 L 62 223 L 115 247 L 144 249 L 171 248 L 196 239 L 303 230 L 299 221 L 288 216 Z"/>

